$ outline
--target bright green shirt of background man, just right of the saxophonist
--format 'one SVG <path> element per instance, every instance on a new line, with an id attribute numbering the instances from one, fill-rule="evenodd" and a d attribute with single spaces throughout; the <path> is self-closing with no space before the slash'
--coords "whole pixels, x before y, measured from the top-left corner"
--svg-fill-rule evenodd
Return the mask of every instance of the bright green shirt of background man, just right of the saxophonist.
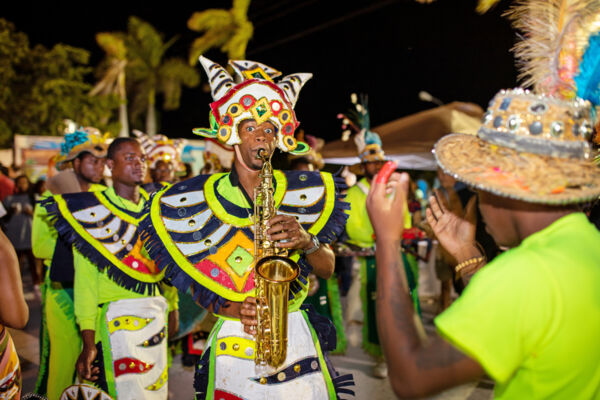
<path id="1" fill-rule="evenodd" d="M 361 188 L 362 186 L 362 188 Z M 346 233 L 348 242 L 360 247 L 368 248 L 375 245 L 373 238 L 373 226 L 367 214 L 367 193 L 371 185 L 367 178 L 362 178 L 358 183 L 348 189 L 345 200 L 350 203 L 350 210 L 346 210 L 348 220 L 346 221 Z M 408 206 L 404 210 L 404 228 L 411 227 Z"/>

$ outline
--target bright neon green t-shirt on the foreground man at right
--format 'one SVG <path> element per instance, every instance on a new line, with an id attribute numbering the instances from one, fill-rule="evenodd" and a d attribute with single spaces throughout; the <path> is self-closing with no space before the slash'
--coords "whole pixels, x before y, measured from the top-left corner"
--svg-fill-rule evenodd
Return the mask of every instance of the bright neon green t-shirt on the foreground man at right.
<path id="1" fill-rule="evenodd" d="M 569 214 L 496 257 L 435 319 L 499 399 L 600 399 L 600 233 Z"/>

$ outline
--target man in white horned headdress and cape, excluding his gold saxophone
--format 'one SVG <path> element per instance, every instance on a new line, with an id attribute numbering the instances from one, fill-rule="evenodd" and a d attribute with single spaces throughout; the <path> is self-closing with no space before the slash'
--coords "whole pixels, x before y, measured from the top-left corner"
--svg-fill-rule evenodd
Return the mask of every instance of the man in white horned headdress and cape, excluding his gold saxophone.
<path id="1" fill-rule="evenodd" d="M 234 166 L 230 173 L 200 175 L 160 191 L 143 222 L 146 248 L 159 268 L 219 317 L 196 368 L 196 399 L 336 399 L 353 394 L 347 388 L 353 384 L 351 376 L 338 376 L 325 359 L 335 347 L 335 328 L 301 308 L 308 274 L 328 278 L 333 272 L 334 255 L 327 243 L 345 224 L 341 180 L 307 171 L 274 170 L 268 179 L 261 175 L 263 166 L 270 169 L 275 147 L 308 150 L 293 136 L 298 126 L 293 107 L 311 75 L 293 74 L 275 83 L 280 73 L 273 68 L 230 61 L 241 78 L 235 84 L 220 65 L 203 57 L 200 61 L 214 102 L 211 128 L 194 131 L 234 146 Z M 263 193 L 268 192 L 269 204 L 261 207 L 272 207 L 276 215 L 255 215 L 261 193 L 255 188 L 268 186 L 269 180 L 271 188 Z M 263 235 L 256 235 L 259 227 L 264 227 Z M 286 249 L 298 268 L 285 299 L 285 360 L 262 372 L 255 367 L 260 348 L 255 342 L 255 261 L 261 259 L 259 254 L 255 260 L 255 245 L 270 247 L 264 255 Z"/>

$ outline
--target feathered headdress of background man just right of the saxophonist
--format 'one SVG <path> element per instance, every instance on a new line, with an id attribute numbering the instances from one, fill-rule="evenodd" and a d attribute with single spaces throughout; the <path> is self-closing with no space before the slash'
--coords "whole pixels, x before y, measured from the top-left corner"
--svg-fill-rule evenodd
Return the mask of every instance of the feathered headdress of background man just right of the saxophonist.
<path id="1" fill-rule="evenodd" d="M 381 139 L 377 133 L 371 131 L 368 97 L 361 94 L 359 99 L 355 93 L 352 93 L 350 100 L 353 108 L 346 114 L 337 116 L 342 120 L 342 129 L 344 130 L 342 140 L 348 140 L 354 132 L 354 143 L 361 162 L 384 161 L 385 153 L 381 148 Z"/>

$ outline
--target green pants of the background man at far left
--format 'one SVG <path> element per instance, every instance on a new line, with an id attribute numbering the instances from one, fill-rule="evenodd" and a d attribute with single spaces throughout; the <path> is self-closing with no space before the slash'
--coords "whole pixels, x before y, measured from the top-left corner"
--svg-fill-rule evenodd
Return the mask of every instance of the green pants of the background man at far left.
<path id="1" fill-rule="evenodd" d="M 73 310 L 73 289 L 53 287 L 48 280 L 45 285 L 43 318 L 47 338 L 42 341 L 42 363 L 45 358 L 48 400 L 58 400 L 62 391 L 74 382 L 75 363 L 82 344 Z M 42 369 L 40 365 L 40 373 Z M 38 392 L 43 391 L 43 387 L 38 387 Z"/>

